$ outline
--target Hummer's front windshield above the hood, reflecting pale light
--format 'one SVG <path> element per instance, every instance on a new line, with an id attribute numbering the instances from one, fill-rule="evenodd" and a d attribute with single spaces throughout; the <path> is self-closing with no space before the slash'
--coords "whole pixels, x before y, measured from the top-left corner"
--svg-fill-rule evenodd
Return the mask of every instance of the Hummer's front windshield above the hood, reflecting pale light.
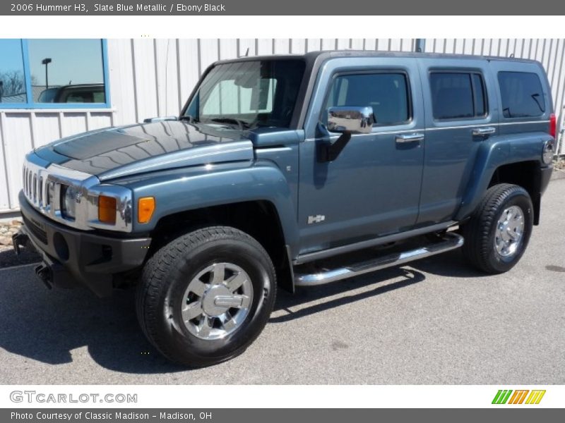
<path id="1" fill-rule="evenodd" d="M 237 128 L 288 128 L 295 111 L 302 59 L 241 61 L 215 66 L 201 82 L 185 116 Z"/>

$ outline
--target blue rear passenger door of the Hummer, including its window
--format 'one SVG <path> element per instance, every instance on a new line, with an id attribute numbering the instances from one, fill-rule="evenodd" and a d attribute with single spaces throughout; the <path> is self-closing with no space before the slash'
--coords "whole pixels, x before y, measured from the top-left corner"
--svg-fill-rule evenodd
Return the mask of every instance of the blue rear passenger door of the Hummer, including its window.
<path id="1" fill-rule="evenodd" d="M 465 194 L 477 150 L 498 133 L 487 61 L 422 59 L 426 140 L 417 223 L 449 221 Z"/>

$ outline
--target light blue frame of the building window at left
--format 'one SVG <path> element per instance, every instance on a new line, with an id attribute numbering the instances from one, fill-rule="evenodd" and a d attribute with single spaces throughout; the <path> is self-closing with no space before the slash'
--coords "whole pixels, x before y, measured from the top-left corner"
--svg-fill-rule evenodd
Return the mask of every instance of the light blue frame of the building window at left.
<path id="1" fill-rule="evenodd" d="M 102 77 L 104 78 L 105 103 L 36 103 L 33 101 L 33 92 L 30 77 L 30 51 L 28 39 L 20 39 L 22 47 L 23 78 L 25 80 L 25 102 L 0 103 L 0 109 L 111 109 L 109 90 L 108 45 L 106 39 L 100 39 L 102 53 Z"/>

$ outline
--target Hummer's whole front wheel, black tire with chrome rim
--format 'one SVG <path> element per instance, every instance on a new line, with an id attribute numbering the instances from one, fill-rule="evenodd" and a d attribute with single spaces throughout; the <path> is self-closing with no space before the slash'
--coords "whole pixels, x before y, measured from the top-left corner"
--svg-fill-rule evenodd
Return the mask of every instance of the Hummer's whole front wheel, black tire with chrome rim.
<path id="1" fill-rule="evenodd" d="M 145 264 L 138 320 L 162 355 L 203 367 L 239 355 L 255 340 L 275 293 L 275 270 L 261 244 L 235 228 L 203 228 Z"/>

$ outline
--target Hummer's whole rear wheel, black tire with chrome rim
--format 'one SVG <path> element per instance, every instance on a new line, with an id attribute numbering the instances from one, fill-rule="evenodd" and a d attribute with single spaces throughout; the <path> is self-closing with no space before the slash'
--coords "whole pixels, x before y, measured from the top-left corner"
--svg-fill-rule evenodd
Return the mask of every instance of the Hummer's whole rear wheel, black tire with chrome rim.
<path id="1" fill-rule="evenodd" d="M 532 227 L 528 191 L 507 183 L 494 185 L 463 226 L 463 254 L 481 271 L 504 273 L 521 259 Z"/>

